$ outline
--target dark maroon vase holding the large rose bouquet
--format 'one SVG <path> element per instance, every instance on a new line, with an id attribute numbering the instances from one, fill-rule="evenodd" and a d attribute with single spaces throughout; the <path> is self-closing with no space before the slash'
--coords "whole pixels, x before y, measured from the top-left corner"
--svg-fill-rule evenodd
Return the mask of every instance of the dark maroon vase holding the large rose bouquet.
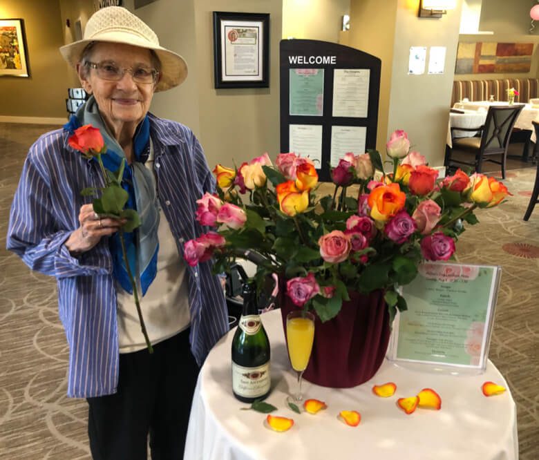
<path id="1" fill-rule="evenodd" d="M 297 308 L 288 296 L 283 296 L 281 316 L 285 331 L 287 314 Z M 333 388 L 366 382 L 384 361 L 389 336 L 384 292 L 372 291 L 366 295 L 352 292 L 335 318 L 322 323 L 316 316 L 311 358 L 303 378 Z"/>

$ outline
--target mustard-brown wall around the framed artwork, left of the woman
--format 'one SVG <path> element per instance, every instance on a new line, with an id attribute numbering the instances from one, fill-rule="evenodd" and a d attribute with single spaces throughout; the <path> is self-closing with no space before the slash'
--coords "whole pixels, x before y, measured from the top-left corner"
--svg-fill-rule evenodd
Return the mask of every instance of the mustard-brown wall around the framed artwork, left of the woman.
<path id="1" fill-rule="evenodd" d="M 67 118 L 67 72 L 57 1 L 2 0 L 0 17 L 24 20 L 30 78 L 0 77 L 0 116 Z"/>

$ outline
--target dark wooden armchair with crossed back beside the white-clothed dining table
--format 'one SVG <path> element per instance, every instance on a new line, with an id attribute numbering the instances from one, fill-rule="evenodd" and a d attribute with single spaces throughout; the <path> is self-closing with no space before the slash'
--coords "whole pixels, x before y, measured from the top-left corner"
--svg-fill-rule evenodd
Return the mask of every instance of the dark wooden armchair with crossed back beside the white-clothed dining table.
<path id="1" fill-rule="evenodd" d="M 472 166 L 475 172 L 480 173 L 483 162 L 493 162 L 502 167 L 502 179 L 505 179 L 505 160 L 507 157 L 507 147 L 509 137 L 515 125 L 518 115 L 524 104 L 513 104 L 511 106 L 490 106 L 486 114 L 484 125 L 477 128 L 451 128 L 451 142 L 453 148 L 446 149 L 444 165 L 448 169 L 455 169 L 455 164 Z M 455 131 L 470 131 L 480 134 L 474 137 L 455 137 Z M 463 151 L 466 154 L 473 154 L 473 160 L 461 160 L 455 158 L 454 151 Z M 499 160 L 491 158 L 499 157 Z"/>

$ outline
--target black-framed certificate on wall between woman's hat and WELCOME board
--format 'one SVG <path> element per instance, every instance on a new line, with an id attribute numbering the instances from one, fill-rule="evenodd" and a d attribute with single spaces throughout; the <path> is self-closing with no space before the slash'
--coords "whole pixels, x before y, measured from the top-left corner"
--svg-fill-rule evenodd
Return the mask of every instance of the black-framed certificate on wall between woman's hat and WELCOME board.
<path id="1" fill-rule="evenodd" d="M 269 14 L 214 11 L 216 88 L 269 87 Z"/>

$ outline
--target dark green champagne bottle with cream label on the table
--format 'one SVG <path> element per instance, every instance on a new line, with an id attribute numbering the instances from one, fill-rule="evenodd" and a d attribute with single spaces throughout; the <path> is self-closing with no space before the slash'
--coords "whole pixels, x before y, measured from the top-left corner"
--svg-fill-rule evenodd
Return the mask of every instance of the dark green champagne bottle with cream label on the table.
<path id="1" fill-rule="evenodd" d="M 244 403 L 269 394 L 269 341 L 258 314 L 256 287 L 243 285 L 243 311 L 232 340 L 232 390 Z"/>

